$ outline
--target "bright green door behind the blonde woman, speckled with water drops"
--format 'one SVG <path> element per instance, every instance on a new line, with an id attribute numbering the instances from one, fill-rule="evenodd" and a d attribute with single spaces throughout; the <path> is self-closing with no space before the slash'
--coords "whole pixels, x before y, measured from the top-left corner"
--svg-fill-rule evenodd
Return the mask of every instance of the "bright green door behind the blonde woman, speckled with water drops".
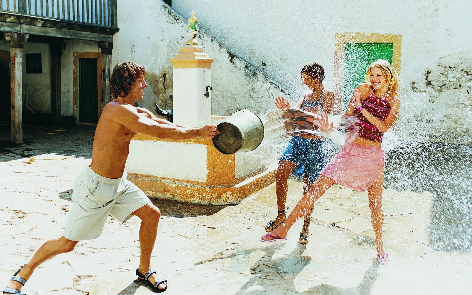
<path id="1" fill-rule="evenodd" d="M 365 72 L 377 59 L 392 63 L 393 43 L 345 43 L 343 76 L 343 111 L 357 85 L 364 82 Z"/>

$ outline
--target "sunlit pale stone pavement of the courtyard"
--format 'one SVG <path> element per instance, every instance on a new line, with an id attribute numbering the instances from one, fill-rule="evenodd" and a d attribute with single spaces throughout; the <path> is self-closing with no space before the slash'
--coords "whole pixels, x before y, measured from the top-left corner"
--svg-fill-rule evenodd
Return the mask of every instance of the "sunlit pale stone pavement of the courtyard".
<path id="1" fill-rule="evenodd" d="M 91 126 L 24 132 L 25 143 L 15 145 L 9 127 L 0 126 L 1 288 L 42 243 L 62 235 L 74 179 L 91 162 Z M 288 211 L 301 195 L 301 183 L 289 180 Z M 367 194 L 342 186 L 316 202 L 307 245 L 297 244 L 303 220 L 287 242 L 259 242 L 277 213 L 274 185 L 235 206 L 153 200 L 162 218 L 152 266 L 168 278 L 168 295 L 471 294 L 472 254 L 430 245 L 432 198 L 427 191 L 384 192 L 387 265 L 374 260 Z M 23 293 L 154 294 L 135 281 L 139 224 L 109 217 L 100 238 L 43 263 Z"/>

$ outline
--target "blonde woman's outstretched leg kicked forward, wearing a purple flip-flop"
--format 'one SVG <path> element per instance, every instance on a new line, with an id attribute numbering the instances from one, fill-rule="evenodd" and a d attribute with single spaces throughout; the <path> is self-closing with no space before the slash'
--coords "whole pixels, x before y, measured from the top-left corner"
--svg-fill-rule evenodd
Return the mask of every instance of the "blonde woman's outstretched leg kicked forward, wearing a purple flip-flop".
<path id="1" fill-rule="evenodd" d="M 294 210 L 292 210 L 284 224 L 270 232 L 270 235 L 285 239 L 287 237 L 288 230 L 294 225 L 294 223 L 302 216 L 306 215 L 313 208 L 315 201 L 318 200 L 320 196 L 323 195 L 326 190 L 335 183 L 336 181 L 333 179 L 324 175 L 320 175 L 320 177 L 318 177 L 312 187 L 310 187 L 308 190 L 308 194 L 304 195 L 300 202 L 296 204 Z M 261 239 L 268 241 L 272 238 L 268 236 L 262 236 Z"/>

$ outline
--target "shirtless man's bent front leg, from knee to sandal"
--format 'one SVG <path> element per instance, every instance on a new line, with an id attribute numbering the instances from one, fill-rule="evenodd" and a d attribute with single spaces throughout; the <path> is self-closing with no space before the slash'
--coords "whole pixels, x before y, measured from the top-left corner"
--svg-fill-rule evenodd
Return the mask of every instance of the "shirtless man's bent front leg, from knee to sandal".
<path id="1" fill-rule="evenodd" d="M 141 257 L 139 260 L 139 272 L 145 274 L 151 269 L 151 254 L 156 243 L 157 226 L 160 219 L 159 208 L 152 204 L 146 204 L 132 214 L 141 219 L 139 228 L 139 243 L 141 244 Z M 149 281 L 154 284 L 158 277 L 155 273 L 149 276 Z M 167 282 L 160 283 L 158 288 L 164 289 Z"/>

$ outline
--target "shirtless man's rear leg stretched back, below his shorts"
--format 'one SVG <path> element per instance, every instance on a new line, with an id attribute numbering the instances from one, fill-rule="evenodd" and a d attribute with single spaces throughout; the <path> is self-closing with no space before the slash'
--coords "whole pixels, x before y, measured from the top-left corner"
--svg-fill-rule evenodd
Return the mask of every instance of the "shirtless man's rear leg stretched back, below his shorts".
<path id="1" fill-rule="evenodd" d="M 68 240 L 64 236 L 61 236 L 59 239 L 47 241 L 34 253 L 33 258 L 18 272 L 17 276 L 27 280 L 42 262 L 50 260 L 58 254 L 71 252 L 78 242 L 79 241 Z M 23 287 L 23 285 L 17 281 L 9 281 L 7 285 L 7 288 L 17 290 L 21 290 L 21 287 Z"/>

